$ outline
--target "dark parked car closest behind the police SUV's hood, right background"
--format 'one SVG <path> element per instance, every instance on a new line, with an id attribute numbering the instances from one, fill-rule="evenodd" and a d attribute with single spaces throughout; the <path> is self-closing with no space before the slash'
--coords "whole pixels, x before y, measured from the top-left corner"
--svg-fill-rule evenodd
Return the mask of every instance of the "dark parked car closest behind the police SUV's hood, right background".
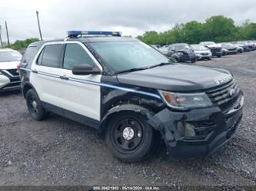
<path id="1" fill-rule="evenodd" d="M 191 61 L 194 63 L 197 61 L 196 54 L 194 54 L 189 45 L 186 43 L 171 44 L 169 46 L 169 50 L 173 51 L 171 57 L 175 58 L 179 62 Z"/>

